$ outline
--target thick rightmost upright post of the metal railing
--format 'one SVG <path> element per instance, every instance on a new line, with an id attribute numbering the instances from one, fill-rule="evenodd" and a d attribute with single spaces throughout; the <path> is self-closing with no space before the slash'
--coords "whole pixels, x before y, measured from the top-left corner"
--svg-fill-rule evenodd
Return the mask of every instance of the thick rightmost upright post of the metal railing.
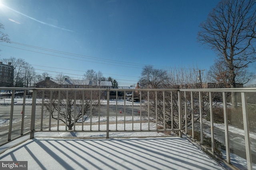
<path id="1" fill-rule="evenodd" d="M 245 141 L 245 150 L 246 150 L 247 169 L 252 170 L 252 154 L 251 154 L 251 146 L 250 146 L 246 94 L 244 92 L 242 92 L 241 97 L 242 97 L 242 109 L 243 109 L 243 121 L 244 121 L 244 141 Z"/>

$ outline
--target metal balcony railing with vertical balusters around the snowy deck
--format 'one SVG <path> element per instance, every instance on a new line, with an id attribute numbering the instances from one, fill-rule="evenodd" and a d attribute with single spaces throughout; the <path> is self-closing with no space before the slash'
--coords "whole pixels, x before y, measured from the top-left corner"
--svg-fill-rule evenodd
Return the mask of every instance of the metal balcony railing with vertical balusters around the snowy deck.
<path id="1" fill-rule="evenodd" d="M 239 92 L 241 93 L 241 105 L 242 105 L 242 114 L 243 114 L 243 124 L 244 124 L 244 139 L 245 139 L 245 150 L 246 150 L 246 160 L 247 160 L 247 168 L 252 169 L 252 153 L 250 148 L 250 136 L 249 136 L 249 127 L 248 127 L 248 111 L 247 111 L 247 92 L 256 92 L 256 88 L 222 88 L 222 89 L 103 89 L 103 88 L 93 88 L 93 89 L 68 89 L 68 88 L 0 88 L 0 90 L 10 90 L 12 93 L 11 102 L 10 102 L 10 116 L 9 116 L 9 126 L 8 126 L 8 137 L 5 141 L 1 141 L 0 146 L 4 145 L 10 141 L 14 141 L 17 138 L 20 138 L 24 135 L 30 134 L 30 139 L 35 137 L 35 134 L 42 134 L 42 133 L 52 133 L 52 132 L 82 132 L 82 133 L 89 133 L 89 132 L 104 132 L 106 133 L 106 138 L 110 137 L 110 132 L 143 132 L 143 131 L 157 131 L 157 132 L 176 132 L 178 133 L 179 137 L 182 137 L 182 134 L 188 135 L 188 130 L 191 128 L 191 138 L 195 139 L 195 123 L 200 123 L 200 143 L 201 145 L 204 144 L 204 133 L 203 133 L 203 116 L 205 112 L 210 113 L 210 137 L 211 137 L 211 149 L 207 149 L 204 147 L 208 152 L 213 155 L 215 145 L 214 145 L 214 112 L 213 112 L 213 93 L 220 93 L 222 96 L 222 103 L 224 109 L 224 125 L 225 125 L 225 146 L 226 146 L 226 164 L 231 168 L 236 168 L 235 166 L 231 165 L 230 161 L 230 138 L 229 138 L 229 131 L 228 131 L 228 114 L 227 114 L 227 93 L 229 92 Z M 26 95 L 23 95 L 23 102 L 22 102 L 22 118 L 21 124 L 18 129 L 20 130 L 20 135 L 16 135 L 16 137 L 12 137 L 14 134 L 13 125 L 13 115 L 14 115 L 14 108 L 16 107 L 14 103 L 15 99 L 15 92 L 17 90 L 23 90 L 24 94 L 27 92 L 32 92 L 32 107 L 31 107 L 31 119 L 29 131 L 24 133 L 24 115 L 30 114 L 25 113 L 26 110 L 26 102 L 27 98 Z M 122 94 L 118 94 L 118 93 Z M 126 120 L 128 116 L 128 102 L 126 99 L 126 92 L 132 92 L 132 105 L 131 105 L 131 112 L 130 116 L 132 117 L 132 129 L 127 129 L 126 124 L 128 120 Z M 110 94 L 115 94 L 110 95 Z M 116 129 L 110 129 L 110 96 L 112 99 L 116 101 L 114 107 L 115 113 L 114 114 L 116 119 Z M 2 98 L 4 96 L 2 95 Z M 102 99 L 106 101 L 106 128 L 101 129 L 101 121 L 100 117 L 102 117 L 102 106 L 105 105 L 102 102 Z M 123 105 L 123 125 L 124 129 L 118 129 L 118 116 L 119 116 L 119 109 L 118 109 L 118 99 L 124 98 L 124 105 Z M 138 102 L 134 102 L 134 99 L 138 98 Z M 204 98 L 204 99 L 202 99 Z M 61 102 L 62 101 L 62 102 Z M 74 102 L 75 101 L 75 102 Z M 73 102 L 73 104 L 69 104 L 69 102 Z M 137 104 L 137 106 L 135 106 Z M 207 109 L 203 109 L 205 106 L 208 106 Z M 41 107 L 40 113 L 36 110 L 37 107 Z M 113 107 L 113 106 L 111 106 Z M 136 107 L 136 108 L 135 108 Z M 137 108 L 138 107 L 138 108 Z M 47 108 L 47 109 L 46 109 Z M 65 108 L 65 111 L 62 113 L 60 110 L 61 108 Z M 70 111 L 70 108 L 73 111 Z M 113 108 L 112 108 L 113 109 Z M 140 129 L 134 129 L 134 113 L 135 110 L 139 109 L 139 123 Z M 70 111 L 70 112 L 68 112 Z M 112 111 L 113 112 L 113 111 Z M 0 111 L 1 113 L 1 111 Z M 48 120 L 45 117 L 48 115 Z M 53 115 L 55 115 L 55 119 L 52 119 Z M 66 116 L 65 116 L 66 115 Z M 84 122 L 84 116 L 90 119 L 89 122 Z M 63 123 L 63 116 L 64 122 Z M 68 117 L 70 116 L 70 117 Z M 98 121 L 98 129 L 92 129 L 92 125 L 95 123 L 92 121 L 92 117 L 97 116 Z M 74 118 L 72 121 L 72 117 Z M 78 119 L 82 117 L 82 129 L 77 129 L 76 126 L 78 125 Z M 47 120 L 47 121 L 46 121 Z M 53 122 L 55 120 L 56 122 Z M 197 121 L 198 120 L 198 121 Z M 69 122 L 70 121 L 70 122 Z M 62 122 L 62 123 L 61 123 Z M 72 128 L 68 130 L 69 123 L 72 124 Z M 150 123 L 155 123 L 155 127 L 152 128 Z M 84 129 L 84 125 L 89 125 L 90 129 Z M 142 129 L 142 123 L 148 123 L 148 129 Z M 45 126 L 46 125 L 46 126 Z M 80 125 L 80 123 L 79 123 Z M 60 127 L 65 126 L 64 129 Z M 1 128 L 4 131 L 3 128 Z M 17 128 L 16 128 L 17 129 Z M 25 128 L 26 129 L 26 128 Z M 0 131 L 1 132 L 1 131 Z M 40 132 L 40 133 L 38 133 Z M 2 134 L 2 133 L 1 133 Z M 190 136 L 190 135 L 188 135 Z M 37 136 L 40 137 L 40 136 Z M 52 135 L 51 135 L 52 137 Z M 196 140 L 195 140 L 196 141 Z M 220 158 L 219 156 L 216 156 Z M 223 160 L 222 158 L 220 158 Z"/>

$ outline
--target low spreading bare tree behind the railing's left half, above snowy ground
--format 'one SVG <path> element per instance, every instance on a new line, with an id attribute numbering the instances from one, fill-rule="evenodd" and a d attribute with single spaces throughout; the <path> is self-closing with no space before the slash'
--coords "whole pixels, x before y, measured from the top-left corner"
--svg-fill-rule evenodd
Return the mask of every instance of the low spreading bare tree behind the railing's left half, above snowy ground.
<path id="1" fill-rule="evenodd" d="M 59 93 L 60 101 L 58 101 Z M 41 94 L 38 93 L 38 95 Z M 98 95 L 99 93 L 96 91 L 53 91 L 52 100 L 50 100 L 50 92 L 46 91 L 44 99 L 44 111 L 50 112 L 50 117 L 52 117 L 52 119 L 59 119 L 67 125 L 68 130 L 72 130 L 75 122 L 78 122 L 79 120 L 84 121 L 84 119 L 94 115 L 98 108 Z"/>

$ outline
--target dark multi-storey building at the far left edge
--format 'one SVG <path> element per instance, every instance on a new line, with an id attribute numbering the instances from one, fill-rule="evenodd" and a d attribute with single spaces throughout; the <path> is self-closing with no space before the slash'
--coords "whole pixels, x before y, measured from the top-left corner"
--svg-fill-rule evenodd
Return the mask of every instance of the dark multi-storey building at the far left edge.
<path id="1" fill-rule="evenodd" d="M 0 61 L 0 87 L 12 87 L 14 79 L 14 67 L 12 63 L 3 64 Z"/>

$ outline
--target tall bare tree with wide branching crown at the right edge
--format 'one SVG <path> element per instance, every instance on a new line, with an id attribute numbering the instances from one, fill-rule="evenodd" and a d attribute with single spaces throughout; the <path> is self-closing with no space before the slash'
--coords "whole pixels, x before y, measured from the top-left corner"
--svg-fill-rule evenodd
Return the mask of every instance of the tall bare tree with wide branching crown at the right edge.
<path id="1" fill-rule="evenodd" d="M 256 61 L 256 1 L 222 0 L 201 23 L 198 41 L 215 50 L 227 64 L 228 83 L 236 87 L 236 69 Z M 236 106 L 235 94 L 232 104 Z"/>

